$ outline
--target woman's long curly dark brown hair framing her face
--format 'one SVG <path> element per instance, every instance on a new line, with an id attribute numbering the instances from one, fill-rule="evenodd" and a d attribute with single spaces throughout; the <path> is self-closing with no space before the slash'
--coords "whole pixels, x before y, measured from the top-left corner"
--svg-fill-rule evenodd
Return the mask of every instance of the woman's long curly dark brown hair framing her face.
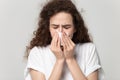
<path id="1" fill-rule="evenodd" d="M 72 1 L 50 0 L 41 10 L 38 29 L 35 31 L 34 38 L 31 40 L 30 45 L 27 47 L 26 57 L 29 55 L 29 50 L 34 46 L 44 47 L 51 43 L 52 38 L 49 31 L 49 21 L 53 15 L 59 12 L 69 13 L 73 17 L 76 32 L 73 35 L 72 41 L 75 44 L 92 42 L 88 34 L 88 29 L 85 27 L 83 18 Z"/>

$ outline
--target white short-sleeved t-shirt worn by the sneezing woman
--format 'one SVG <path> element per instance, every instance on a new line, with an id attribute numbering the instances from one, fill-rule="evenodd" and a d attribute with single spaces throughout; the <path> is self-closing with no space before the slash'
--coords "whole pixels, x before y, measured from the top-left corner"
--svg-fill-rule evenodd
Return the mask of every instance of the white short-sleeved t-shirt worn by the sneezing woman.
<path id="1" fill-rule="evenodd" d="M 103 80 L 99 56 L 93 43 L 77 44 L 75 46 L 75 56 L 77 63 L 85 76 L 88 76 L 98 69 L 99 80 Z M 27 66 L 24 71 L 25 80 L 32 80 L 29 74 L 30 68 L 42 72 L 45 75 L 46 80 L 48 80 L 55 61 L 56 57 L 50 50 L 49 45 L 47 47 L 34 47 L 31 49 L 28 56 Z M 62 76 L 61 80 L 73 80 L 66 64 L 63 69 L 64 76 Z"/>

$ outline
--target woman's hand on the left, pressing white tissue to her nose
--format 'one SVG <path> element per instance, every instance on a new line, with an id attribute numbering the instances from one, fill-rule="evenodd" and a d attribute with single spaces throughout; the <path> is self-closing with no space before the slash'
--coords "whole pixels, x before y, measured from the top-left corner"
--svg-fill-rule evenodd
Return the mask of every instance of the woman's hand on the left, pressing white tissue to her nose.
<path id="1" fill-rule="evenodd" d="M 60 48 L 60 38 L 57 33 L 55 33 L 55 36 L 51 41 L 50 49 L 56 56 L 57 60 L 64 60 L 64 54 Z"/>

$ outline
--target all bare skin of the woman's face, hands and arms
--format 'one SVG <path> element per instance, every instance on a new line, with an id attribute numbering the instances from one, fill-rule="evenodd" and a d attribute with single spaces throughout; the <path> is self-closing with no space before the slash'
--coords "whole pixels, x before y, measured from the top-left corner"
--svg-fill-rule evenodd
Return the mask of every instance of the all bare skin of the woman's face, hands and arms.
<path id="1" fill-rule="evenodd" d="M 71 37 L 76 30 L 73 25 L 72 16 L 65 12 L 60 12 L 52 16 L 50 18 L 49 30 L 52 36 L 50 49 L 56 56 L 56 62 L 49 80 L 61 79 L 64 63 L 67 64 L 74 80 L 98 80 L 97 70 L 85 77 L 73 56 L 75 44 L 71 40 Z M 62 39 L 59 38 L 56 30 L 62 32 Z M 63 50 L 60 47 L 60 42 L 63 44 Z M 32 80 L 45 80 L 45 76 L 41 72 L 31 69 L 30 74 Z"/>

